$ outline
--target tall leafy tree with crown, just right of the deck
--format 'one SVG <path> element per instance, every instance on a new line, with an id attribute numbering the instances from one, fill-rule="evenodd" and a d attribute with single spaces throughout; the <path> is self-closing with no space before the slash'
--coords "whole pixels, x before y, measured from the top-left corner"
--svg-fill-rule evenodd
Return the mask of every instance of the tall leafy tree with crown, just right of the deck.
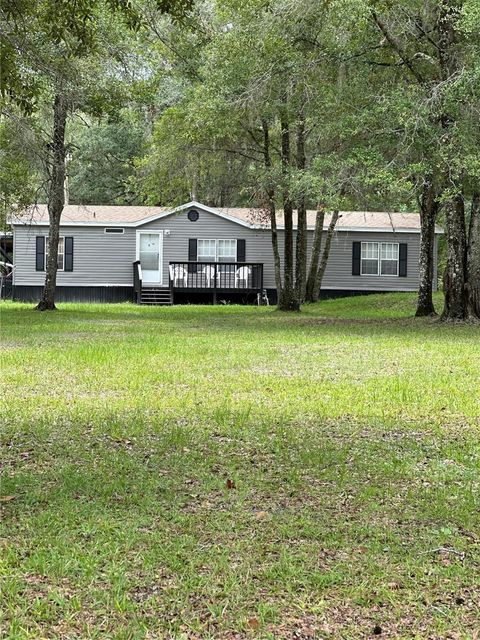
<path id="1" fill-rule="evenodd" d="M 319 143 L 332 130 L 318 114 L 333 114 L 339 101 L 334 60 L 338 30 L 349 15 L 346 4 L 331 9 L 323 2 L 222 0 L 211 40 L 200 53 L 199 82 L 183 102 L 190 151 L 228 149 L 250 160 L 250 187 L 271 227 L 278 306 L 286 311 L 298 310 L 305 299 L 307 205 L 328 200 L 314 193 L 312 161 L 333 149 L 330 138 L 330 144 Z"/>

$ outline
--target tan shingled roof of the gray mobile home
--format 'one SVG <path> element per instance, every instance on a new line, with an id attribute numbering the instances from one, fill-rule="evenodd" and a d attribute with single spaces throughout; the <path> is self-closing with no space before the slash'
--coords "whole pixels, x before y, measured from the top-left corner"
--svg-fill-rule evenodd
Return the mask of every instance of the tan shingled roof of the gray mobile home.
<path id="1" fill-rule="evenodd" d="M 197 207 L 217 214 L 222 218 L 237 222 L 251 228 L 269 228 L 266 211 L 253 208 L 208 207 L 199 202 L 189 202 L 179 207 L 144 207 L 117 205 L 66 205 L 62 213 L 62 224 L 81 226 L 140 226 L 147 221 L 162 218 L 182 210 Z M 325 215 L 324 228 L 328 227 L 330 214 Z M 307 212 L 307 226 L 315 227 L 316 211 Z M 12 224 L 48 224 L 48 211 L 45 204 L 32 205 L 22 214 L 15 214 L 11 218 Z M 294 225 L 296 212 L 294 212 Z M 283 211 L 277 211 L 277 224 L 283 228 Z M 339 231 L 376 230 L 376 231 L 420 231 L 420 216 L 418 213 L 399 213 L 394 211 L 342 211 L 337 222 Z M 442 230 L 437 228 L 437 233 Z"/>

